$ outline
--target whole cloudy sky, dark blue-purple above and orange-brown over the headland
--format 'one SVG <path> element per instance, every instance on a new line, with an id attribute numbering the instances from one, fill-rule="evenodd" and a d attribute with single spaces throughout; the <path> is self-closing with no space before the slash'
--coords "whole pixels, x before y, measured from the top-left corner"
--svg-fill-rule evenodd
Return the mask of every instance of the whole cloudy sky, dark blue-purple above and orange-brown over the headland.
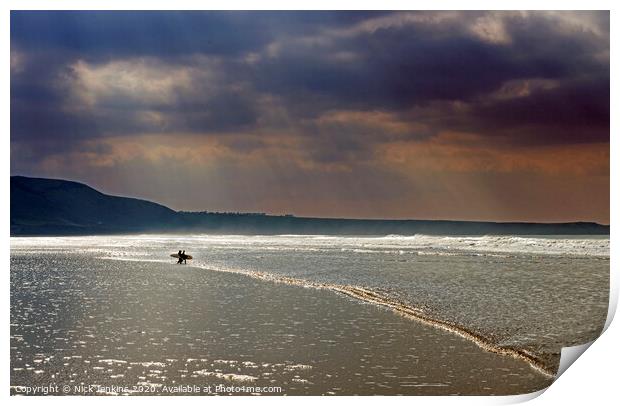
<path id="1" fill-rule="evenodd" d="M 11 174 L 176 210 L 609 224 L 609 12 L 11 12 Z"/>

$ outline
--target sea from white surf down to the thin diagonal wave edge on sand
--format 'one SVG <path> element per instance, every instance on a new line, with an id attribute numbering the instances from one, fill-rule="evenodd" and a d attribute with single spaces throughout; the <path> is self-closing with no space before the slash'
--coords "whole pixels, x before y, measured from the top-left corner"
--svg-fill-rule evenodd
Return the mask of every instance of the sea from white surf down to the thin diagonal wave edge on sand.
<path id="1" fill-rule="evenodd" d="M 12 254 L 88 253 L 298 285 L 364 287 L 379 302 L 531 355 L 552 373 L 562 347 L 598 337 L 607 315 L 609 238 L 579 236 L 174 236 L 12 238 Z M 111 265 L 110 265 L 111 266 Z M 124 265 L 125 266 L 125 265 Z"/>

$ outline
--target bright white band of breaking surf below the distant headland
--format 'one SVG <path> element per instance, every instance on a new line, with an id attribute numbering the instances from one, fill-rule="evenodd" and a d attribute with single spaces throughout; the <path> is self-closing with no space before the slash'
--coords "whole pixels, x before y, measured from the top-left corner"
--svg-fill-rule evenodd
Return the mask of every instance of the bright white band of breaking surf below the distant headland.
<path id="1" fill-rule="evenodd" d="M 118 241 L 120 240 L 120 241 Z M 527 253 L 562 256 L 594 256 L 609 258 L 608 237 L 583 236 L 399 236 L 384 237 L 336 237 L 321 235 L 279 235 L 279 236 L 241 236 L 241 235 L 189 235 L 160 236 L 136 235 L 122 237 L 13 237 L 11 248 L 53 250 L 61 247 L 101 249 L 140 247 L 145 242 L 152 244 L 182 243 L 198 247 L 216 244 L 229 249 L 243 249 L 258 243 L 265 250 L 331 251 L 333 249 L 353 252 L 394 253 L 409 250 L 455 250 L 463 252 L 502 252 Z M 135 252 L 132 252 L 135 254 Z"/>

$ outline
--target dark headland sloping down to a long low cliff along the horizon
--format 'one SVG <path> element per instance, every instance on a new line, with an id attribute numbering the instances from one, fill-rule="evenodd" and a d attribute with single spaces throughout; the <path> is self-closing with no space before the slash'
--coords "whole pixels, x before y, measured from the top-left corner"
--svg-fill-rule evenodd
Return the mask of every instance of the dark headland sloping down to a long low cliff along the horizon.
<path id="1" fill-rule="evenodd" d="M 110 196 L 78 182 L 11 177 L 11 235 L 137 232 L 333 235 L 609 234 L 596 223 L 492 223 L 355 220 L 260 213 L 177 212 L 146 200 Z"/>

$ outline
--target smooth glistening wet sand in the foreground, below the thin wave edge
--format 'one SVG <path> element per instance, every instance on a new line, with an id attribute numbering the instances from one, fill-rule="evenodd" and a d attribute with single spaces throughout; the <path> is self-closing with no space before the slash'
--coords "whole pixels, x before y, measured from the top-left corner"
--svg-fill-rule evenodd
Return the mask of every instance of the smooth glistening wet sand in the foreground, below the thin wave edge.
<path id="1" fill-rule="evenodd" d="M 223 384 L 286 395 L 501 395 L 550 383 L 523 360 L 328 290 L 92 254 L 11 256 L 12 394 Z"/>

